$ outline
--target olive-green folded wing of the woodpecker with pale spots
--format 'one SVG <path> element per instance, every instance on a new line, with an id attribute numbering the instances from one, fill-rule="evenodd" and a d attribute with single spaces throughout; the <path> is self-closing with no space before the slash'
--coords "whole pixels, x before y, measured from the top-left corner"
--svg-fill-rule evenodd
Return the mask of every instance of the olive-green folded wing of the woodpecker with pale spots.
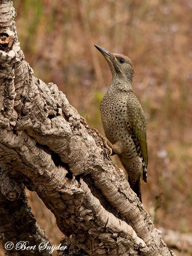
<path id="1" fill-rule="evenodd" d="M 135 106 L 136 103 L 136 106 Z M 147 136 L 146 136 L 146 119 L 143 109 L 138 102 L 128 101 L 127 103 L 127 127 L 133 136 L 136 146 L 138 145 L 147 167 L 148 153 L 147 153 Z"/>

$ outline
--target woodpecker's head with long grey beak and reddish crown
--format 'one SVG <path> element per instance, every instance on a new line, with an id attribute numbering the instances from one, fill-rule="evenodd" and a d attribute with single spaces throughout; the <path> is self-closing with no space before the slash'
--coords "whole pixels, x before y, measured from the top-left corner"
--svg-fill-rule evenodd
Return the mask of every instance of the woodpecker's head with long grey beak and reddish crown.
<path id="1" fill-rule="evenodd" d="M 112 77 L 132 83 L 134 67 L 132 61 L 123 54 L 111 53 L 103 47 L 94 45 L 104 56 L 110 67 Z"/>

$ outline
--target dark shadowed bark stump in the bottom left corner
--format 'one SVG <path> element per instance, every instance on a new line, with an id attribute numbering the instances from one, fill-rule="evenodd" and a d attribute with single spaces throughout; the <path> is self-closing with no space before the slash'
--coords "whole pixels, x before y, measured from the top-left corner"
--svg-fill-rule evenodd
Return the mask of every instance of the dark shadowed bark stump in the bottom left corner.
<path id="1" fill-rule="evenodd" d="M 6 254 L 23 255 L 23 250 L 16 250 L 21 246 L 33 248 L 25 250 L 25 255 L 51 255 L 50 250 L 38 251 L 36 248 L 42 243 L 50 246 L 44 231 L 37 225 L 31 212 L 23 184 L 10 179 L 9 173 L 0 167 L 0 240 Z M 23 241 L 24 243 L 20 243 Z M 25 243 L 27 241 L 28 243 Z M 13 244 L 12 244 L 13 243 Z M 6 247 L 5 247 L 6 245 Z M 16 247 L 17 245 L 17 247 Z M 10 249 L 6 250 L 6 248 Z M 36 246 L 36 248 L 34 248 Z"/>

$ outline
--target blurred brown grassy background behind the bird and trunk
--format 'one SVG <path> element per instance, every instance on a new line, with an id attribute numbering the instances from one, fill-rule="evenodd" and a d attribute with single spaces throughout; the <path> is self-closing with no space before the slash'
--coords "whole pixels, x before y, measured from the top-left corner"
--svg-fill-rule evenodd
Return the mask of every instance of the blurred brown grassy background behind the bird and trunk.
<path id="1" fill-rule="evenodd" d="M 13 5 L 18 40 L 34 76 L 56 83 L 103 135 L 99 104 L 111 72 L 93 44 L 132 60 L 133 91 L 147 119 L 144 207 L 157 228 L 192 232 L 192 1 L 14 0 Z M 115 156 L 113 162 L 122 168 Z M 54 216 L 35 193 L 27 195 L 38 224 L 58 245 L 62 234 Z"/>

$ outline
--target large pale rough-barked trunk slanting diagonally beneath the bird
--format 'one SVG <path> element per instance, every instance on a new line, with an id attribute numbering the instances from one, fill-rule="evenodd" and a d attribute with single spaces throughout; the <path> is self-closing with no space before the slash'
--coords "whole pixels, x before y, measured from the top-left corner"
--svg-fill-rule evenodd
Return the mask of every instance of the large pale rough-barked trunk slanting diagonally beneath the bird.
<path id="1" fill-rule="evenodd" d="M 0 164 L 88 255 L 174 255 L 101 138 L 55 84 L 33 77 L 9 5 L 0 5 Z"/>

